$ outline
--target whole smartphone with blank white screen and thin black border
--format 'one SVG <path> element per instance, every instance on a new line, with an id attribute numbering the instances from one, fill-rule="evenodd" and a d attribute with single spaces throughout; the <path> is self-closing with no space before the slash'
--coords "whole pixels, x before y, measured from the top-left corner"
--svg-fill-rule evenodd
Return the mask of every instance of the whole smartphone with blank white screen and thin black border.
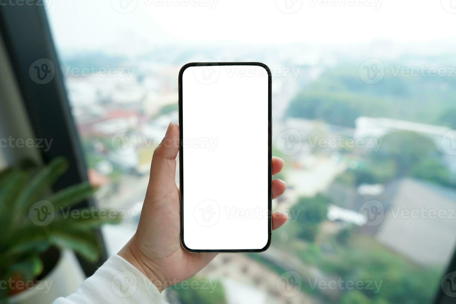
<path id="1" fill-rule="evenodd" d="M 179 72 L 181 244 L 261 252 L 271 242 L 271 72 L 259 62 Z"/>

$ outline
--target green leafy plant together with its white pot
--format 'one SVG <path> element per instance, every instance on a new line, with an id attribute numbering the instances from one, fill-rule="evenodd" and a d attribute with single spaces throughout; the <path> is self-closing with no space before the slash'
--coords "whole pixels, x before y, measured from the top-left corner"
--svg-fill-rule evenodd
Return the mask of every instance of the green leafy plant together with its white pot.
<path id="1" fill-rule="evenodd" d="M 94 193 L 87 182 L 49 191 L 67 168 L 58 157 L 0 173 L 0 303 L 51 303 L 73 292 L 84 279 L 73 251 L 97 260 L 93 228 L 119 222 L 115 211 L 70 209 Z"/>

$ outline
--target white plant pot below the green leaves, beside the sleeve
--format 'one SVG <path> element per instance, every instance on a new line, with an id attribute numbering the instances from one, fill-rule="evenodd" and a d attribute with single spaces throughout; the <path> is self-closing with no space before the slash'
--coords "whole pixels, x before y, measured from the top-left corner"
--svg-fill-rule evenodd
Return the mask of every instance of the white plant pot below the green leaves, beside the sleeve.
<path id="1" fill-rule="evenodd" d="M 63 250 L 56 266 L 33 288 L 25 289 L 8 298 L 14 304 L 47 304 L 58 297 L 72 294 L 86 278 L 76 255 L 71 250 Z"/>

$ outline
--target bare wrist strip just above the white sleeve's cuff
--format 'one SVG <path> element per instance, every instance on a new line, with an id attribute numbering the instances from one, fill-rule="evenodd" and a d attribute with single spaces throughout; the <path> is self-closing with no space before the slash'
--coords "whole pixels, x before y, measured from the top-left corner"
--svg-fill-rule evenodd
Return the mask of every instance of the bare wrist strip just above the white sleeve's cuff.
<path id="1" fill-rule="evenodd" d="M 138 246 L 136 245 L 135 236 L 133 236 L 130 241 L 125 244 L 117 255 L 124 258 L 128 263 L 144 274 L 160 293 L 169 286 L 169 284 L 167 284 L 166 277 L 152 266 L 153 263 L 149 258 L 146 258 L 140 252 Z"/>

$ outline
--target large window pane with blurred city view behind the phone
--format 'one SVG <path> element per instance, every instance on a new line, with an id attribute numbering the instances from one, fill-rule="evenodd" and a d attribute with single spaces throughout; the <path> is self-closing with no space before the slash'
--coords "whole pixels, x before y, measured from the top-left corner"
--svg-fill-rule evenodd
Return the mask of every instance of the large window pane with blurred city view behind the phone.
<path id="1" fill-rule="evenodd" d="M 204 268 L 212 296 L 430 303 L 454 278 L 456 241 L 456 10 L 440 2 L 50 2 L 98 205 L 131 211 L 104 230 L 109 251 L 135 232 L 153 150 L 177 122 L 180 67 L 264 62 L 288 185 L 273 207 L 289 221 L 268 251 Z"/>

